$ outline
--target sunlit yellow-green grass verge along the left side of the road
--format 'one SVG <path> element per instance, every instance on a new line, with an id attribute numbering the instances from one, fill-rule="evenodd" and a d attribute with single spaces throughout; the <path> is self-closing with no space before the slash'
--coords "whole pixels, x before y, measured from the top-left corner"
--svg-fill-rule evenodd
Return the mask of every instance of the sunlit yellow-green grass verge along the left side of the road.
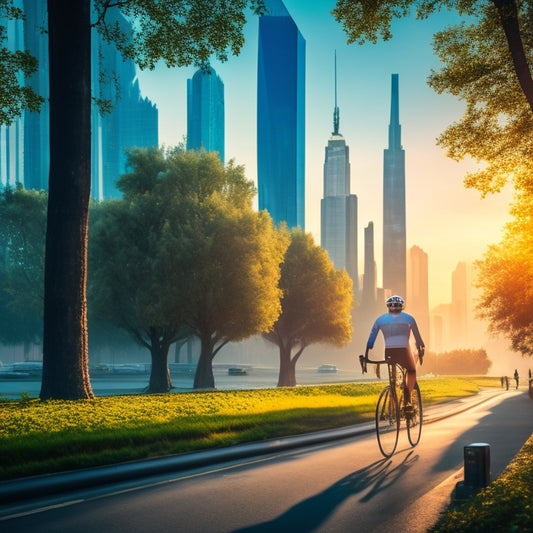
<path id="1" fill-rule="evenodd" d="M 424 405 L 499 387 L 420 379 Z M 0 403 L 0 480 L 261 441 L 373 419 L 384 382 Z"/>

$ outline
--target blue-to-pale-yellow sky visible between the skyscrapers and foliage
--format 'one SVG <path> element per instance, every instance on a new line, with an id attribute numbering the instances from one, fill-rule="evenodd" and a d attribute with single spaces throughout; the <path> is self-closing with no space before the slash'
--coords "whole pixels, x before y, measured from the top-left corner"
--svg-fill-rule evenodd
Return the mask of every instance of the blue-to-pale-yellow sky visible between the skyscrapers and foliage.
<path id="1" fill-rule="evenodd" d="M 378 285 L 381 285 L 383 150 L 388 143 L 391 74 L 399 75 L 400 123 L 406 154 L 407 247 L 428 254 L 429 303 L 451 302 L 451 275 L 460 261 L 480 259 L 498 242 L 509 220 L 512 194 L 504 190 L 481 198 L 463 186 L 473 162 L 455 162 L 436 145 L 464 104 L 438 95 L 427 85 L 433 33 L 455 23 L 443 11 L 426 21 L 414 17 L 393 24 L 393 39 L 376 45 L 347 45 L 330 14 L 335 0 L 284 0 L 306 41 L 306 223 L 320 243 L 324 150 L 333 129 L 334 55 L 337 54 L 340 133 L 350 147 L 351 193 L 358 197 L 359 272 L 363 272 L 364 228 L 374 223 Z M 245 45 L 226 63 L 212 62 L 225 92 L 226 161 L 244 165 L 257 183 L 256 95 L 258 19 L 251 12 Z M 159 143 L 175 146 L 187 134 L 187 82 L 194 67 L 139 72 L 143 96 L 159 109 Z"/>

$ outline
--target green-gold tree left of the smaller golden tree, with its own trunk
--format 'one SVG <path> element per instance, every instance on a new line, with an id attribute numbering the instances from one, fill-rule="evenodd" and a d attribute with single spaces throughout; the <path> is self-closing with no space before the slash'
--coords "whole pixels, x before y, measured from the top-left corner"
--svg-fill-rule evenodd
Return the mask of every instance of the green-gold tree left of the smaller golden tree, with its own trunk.
<path id="1" fill-rule="evenodd" d="M 201 341 L 195 388 L 215 386 L 213 359 L 228 342 L 269 330 L 281 311 L 279 265 L 287 239 L 266 211 L 251 204 L 218 212 L 194 263 L 188 325 Z"/>

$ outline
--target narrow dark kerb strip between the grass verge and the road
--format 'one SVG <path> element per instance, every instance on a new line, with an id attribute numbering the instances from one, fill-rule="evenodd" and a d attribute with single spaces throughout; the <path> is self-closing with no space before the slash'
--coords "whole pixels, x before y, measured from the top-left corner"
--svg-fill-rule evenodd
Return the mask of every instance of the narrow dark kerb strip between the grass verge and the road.
<path id="1" fill-rule="evenodd" d="M 487 390 L 474 396 L 428 407 L 424 423 L 429 424 L 471 409 L 506 391 Z M 227 448 L 190 452 L 170 457 L 145 459 L 117 465 L 108 465 L 80 471 L 62 472 L 0 483 L 0 515 L 6 504 L 22 502 L 43 496 L 60 495 L 73 490 L 88 489 L 104 484 L 124 482 L 170 472 L 179 472 L 225 461 L 235 461 L 259 455 L 279 453 L 301 446 L 345 439 L 374 431 L 374 422 L 339 429 L 307 433 L 293 437 L 239 444 Z"/>

